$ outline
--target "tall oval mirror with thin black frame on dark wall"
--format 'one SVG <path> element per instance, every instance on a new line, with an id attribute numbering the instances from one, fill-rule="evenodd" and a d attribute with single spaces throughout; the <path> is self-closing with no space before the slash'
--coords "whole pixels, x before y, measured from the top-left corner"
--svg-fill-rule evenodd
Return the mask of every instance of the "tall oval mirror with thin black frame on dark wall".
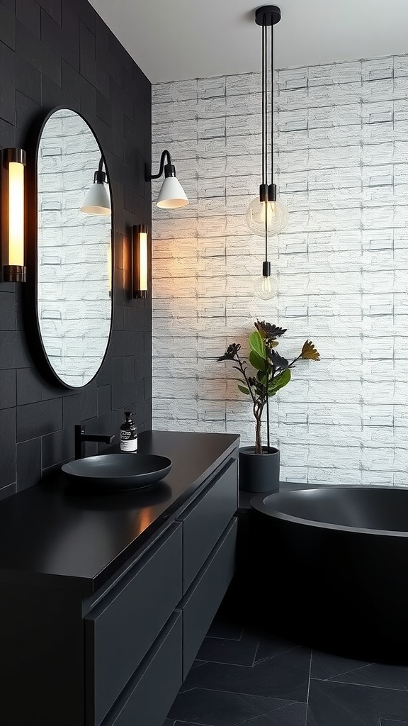
<path id="1" fill-rule="evenodd" d="M 105 160 L 86 121 L 50 114 L 37 155 L 37 314 L 44 353 L 65 386 L 86 386 L 112 322 L 112 211 Z"/>

